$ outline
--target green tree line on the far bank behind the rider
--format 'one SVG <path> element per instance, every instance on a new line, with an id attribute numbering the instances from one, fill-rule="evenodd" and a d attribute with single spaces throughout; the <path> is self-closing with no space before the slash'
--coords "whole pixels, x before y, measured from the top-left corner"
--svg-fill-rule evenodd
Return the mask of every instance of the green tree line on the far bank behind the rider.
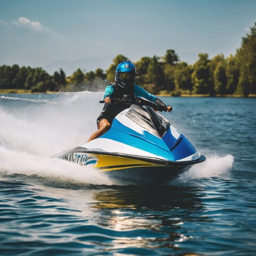
<path id="1" fill-rule="evenodd" d="M 126 56 L 117 55 L 108 70 L 98 68 L 84 73 L 76 70 L 66 77 L 60 69 L 49 75 L 41 67 L 0 66 L 0 89 L 29 89 L 31 92 L 48 91 L 99 91 L 115 79 L 115 69 Z M 256 22 L 235 55 L 225 58 L 218 54 L 209 59 L 207 53 L 198 54 L 198 60 L 191 65 L 180 61 L 173 49 L 162 57 L 142 57 L 135 62 L 136 83 L 151 93 L 256 94 Z"/>

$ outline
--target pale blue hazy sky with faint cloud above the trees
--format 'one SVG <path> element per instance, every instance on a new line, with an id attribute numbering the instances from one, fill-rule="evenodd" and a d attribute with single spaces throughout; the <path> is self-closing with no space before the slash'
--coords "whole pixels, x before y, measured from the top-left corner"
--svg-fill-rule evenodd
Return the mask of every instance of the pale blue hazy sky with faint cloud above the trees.
<path id="1" fill-rule="evenodd" d="M 167 49 L 192 64 L 200 52 L 235 54 L 254 22 L 256 0 L 0 0 L 0 65 L 96 58 L 101 67 Z"/>

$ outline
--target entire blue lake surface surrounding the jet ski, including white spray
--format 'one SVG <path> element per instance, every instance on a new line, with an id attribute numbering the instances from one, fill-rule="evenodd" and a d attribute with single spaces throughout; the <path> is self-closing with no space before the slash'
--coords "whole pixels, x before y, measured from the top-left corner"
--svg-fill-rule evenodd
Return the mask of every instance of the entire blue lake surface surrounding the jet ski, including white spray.
<path id="1" fill-rule="evenodd" d="M 140 187 L 49 158 L 87 141 L 101 97 L 0 94 L 0 255 L 256 255 L 256 99 L 161 98 L 207 160 Z"/>

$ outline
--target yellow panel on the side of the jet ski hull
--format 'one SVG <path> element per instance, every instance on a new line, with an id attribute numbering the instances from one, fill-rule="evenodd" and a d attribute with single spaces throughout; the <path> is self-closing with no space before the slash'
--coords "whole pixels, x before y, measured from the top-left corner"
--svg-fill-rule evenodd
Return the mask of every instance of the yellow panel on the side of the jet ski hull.
<path id="1" fill-rule="evenodd" d="M 165 166 L 164 164 L 154 164 L 142 160 L 111 155 L 95 155 L 95 157 L 98 158 L 98 162 L 93 167 L 100 168 L 101 171 L 122 170 L 136 167 Z"/>

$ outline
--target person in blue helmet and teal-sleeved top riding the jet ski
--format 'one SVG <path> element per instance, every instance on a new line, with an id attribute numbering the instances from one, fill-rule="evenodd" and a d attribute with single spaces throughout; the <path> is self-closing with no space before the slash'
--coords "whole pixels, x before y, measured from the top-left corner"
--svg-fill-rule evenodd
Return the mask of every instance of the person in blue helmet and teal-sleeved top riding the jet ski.
<path id="1" fill-rule="evenodd" d="M 116 108 L 115 105 L 110 104 L 110 97 L 115 99 L 128 98 L 135 100 L 135 97 L 143 97 L 149 101 L 161 106 L 164 111 L 172 111 L 171 106 L 166 106 L 155 95 L 146 92 L 143 88 L 135 85 L 135 77 L 137 75 L 136 67 L 130 61 L 124 61 L 117 66 L 115 82 L 110 83 L 105 89 L 103 96 L 105 105 L 102 112 L 97 118 L 98 130 L 94 132 L 88 141 L 96 139 L 107 132 L 112 124 L 113 119 L 124 109 Z"/>

